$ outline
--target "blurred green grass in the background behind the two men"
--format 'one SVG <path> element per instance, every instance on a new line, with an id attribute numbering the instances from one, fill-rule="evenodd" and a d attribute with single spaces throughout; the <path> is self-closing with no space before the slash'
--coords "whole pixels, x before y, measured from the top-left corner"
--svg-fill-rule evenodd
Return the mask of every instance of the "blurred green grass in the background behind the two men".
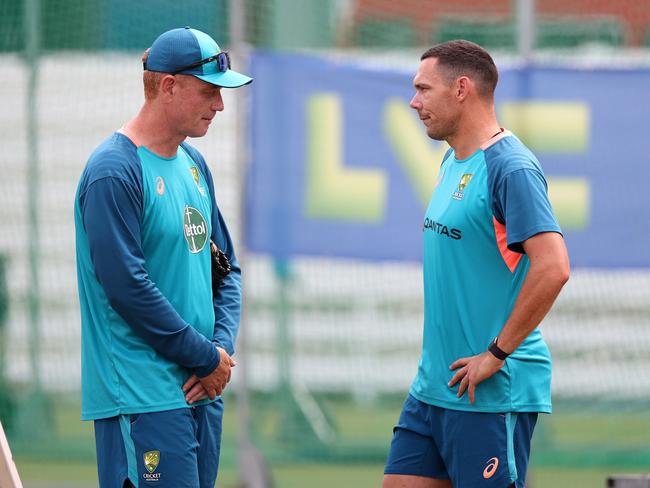
<path id="1" fill-rule="evenodd" d="M 361 405 L 349 397 L 328 396 L 319 398 L 319 403 L 338 432 L 329 450 L 309 441 L 305 424 L 301 426 L 300 419 L 291 418 L 295 411 L 289 412 L 291 415 L 280 412 L 290 402 L 254 398 L 257 441 L 271 460 L 276 487 L 378 487 L 401 408 L 399 399 Z M 26 488 L 96 487 L 92 424 L 78 420 L 76 399 L 53 398 L 52 404 L 55 414 L 49 436 L 11 439 Z M 227 397 L 220 488 L 238 485 L 236 412 L 234 398 Z M 532 486 L 604 487 L 610 474 L 649 471 L 647 432 L 650 415 L 639 410 L 614 415 L 574 407 L 540 416 L 533 447 Z"/>

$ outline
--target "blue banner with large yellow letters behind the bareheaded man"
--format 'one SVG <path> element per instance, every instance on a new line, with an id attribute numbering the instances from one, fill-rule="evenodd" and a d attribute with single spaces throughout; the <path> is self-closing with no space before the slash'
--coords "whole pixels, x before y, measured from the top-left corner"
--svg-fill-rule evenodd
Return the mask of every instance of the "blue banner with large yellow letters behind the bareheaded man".
<path id="1" fill-rule="evenodd" d="M 416 68 L 254 54 L 251 251 L 422 259 L 448 147 L 408 106 Z M 499 121 L 540 159 L 574 266 L 650 266 L 648 86 L 650 70 L 501 70 Z"/>

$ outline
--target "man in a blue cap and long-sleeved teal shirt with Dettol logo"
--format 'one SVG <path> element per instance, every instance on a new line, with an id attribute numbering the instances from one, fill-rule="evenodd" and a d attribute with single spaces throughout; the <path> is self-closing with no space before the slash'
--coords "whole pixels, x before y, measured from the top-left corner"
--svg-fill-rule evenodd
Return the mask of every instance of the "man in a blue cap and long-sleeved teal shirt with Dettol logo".
<path id="1" fill-rule="evenodd" d="M 143 65 L 144 105 L 95 149 L 75 197 L 82 420 L 102 488 L 212 488 L 241 273 L 210 170 L 184 141 L 206 134 L 223 87 L 252 79 L 189 27 Z M 231 267 L 214 292 L 210 241 Z"/>

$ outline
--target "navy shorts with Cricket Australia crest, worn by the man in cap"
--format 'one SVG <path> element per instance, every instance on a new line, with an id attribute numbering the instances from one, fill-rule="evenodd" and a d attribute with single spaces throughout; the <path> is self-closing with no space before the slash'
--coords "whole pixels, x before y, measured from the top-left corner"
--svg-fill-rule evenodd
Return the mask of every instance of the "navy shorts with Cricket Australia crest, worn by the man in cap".
<path id="1" fill-rule="evenodd" d="M 95 420 L 100 488 L 214 488 L 222 417 L 219 398 L 197 407 Z"/>

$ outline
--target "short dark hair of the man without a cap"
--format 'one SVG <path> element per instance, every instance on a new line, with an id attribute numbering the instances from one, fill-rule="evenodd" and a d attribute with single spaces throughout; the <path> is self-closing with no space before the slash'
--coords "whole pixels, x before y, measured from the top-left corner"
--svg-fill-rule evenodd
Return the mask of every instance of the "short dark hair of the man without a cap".
<path id="1" fill-rule="evenodd" d="M 420 60 L 427 58 L 436 58 L 446 69 L 450 81 L 468 76 L 477 82 L 483 96 L 494 96 L 499 72 L 492 56 L 478 44 L 463 39 L 443 42 L 427 49 Z"/>

